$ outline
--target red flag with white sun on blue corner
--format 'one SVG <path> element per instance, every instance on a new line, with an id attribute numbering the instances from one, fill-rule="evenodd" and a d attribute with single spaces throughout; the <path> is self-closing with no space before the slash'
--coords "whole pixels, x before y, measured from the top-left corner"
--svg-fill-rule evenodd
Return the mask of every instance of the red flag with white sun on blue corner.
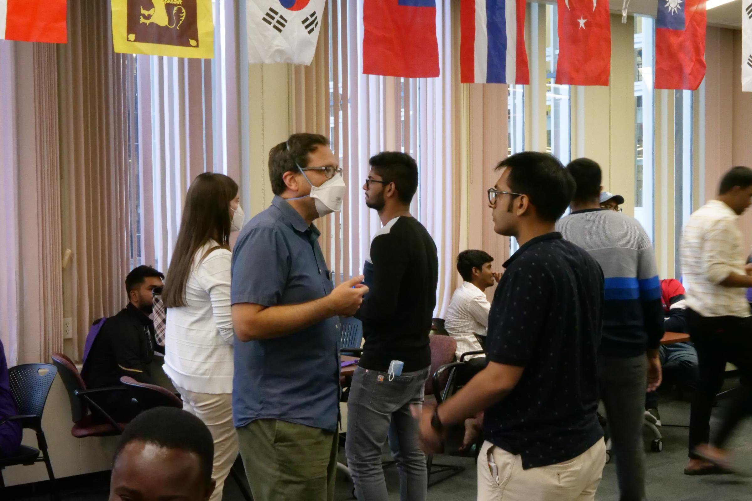
<path id="1" fill-rule="evenodd" d="M 705 77 L 705 0 L 658 0 L 656 89 L 695 90 Z"/>

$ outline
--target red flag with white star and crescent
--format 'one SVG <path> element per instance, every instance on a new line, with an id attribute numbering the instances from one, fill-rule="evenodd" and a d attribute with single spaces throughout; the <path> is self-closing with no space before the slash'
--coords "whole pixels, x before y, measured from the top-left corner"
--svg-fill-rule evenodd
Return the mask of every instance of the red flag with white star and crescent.
<path id="1" fill-rule="evenodd" d="M 607 0 L 557 0 L 559 62 L 556 83 L 608 85 L 611 14 Z"/>

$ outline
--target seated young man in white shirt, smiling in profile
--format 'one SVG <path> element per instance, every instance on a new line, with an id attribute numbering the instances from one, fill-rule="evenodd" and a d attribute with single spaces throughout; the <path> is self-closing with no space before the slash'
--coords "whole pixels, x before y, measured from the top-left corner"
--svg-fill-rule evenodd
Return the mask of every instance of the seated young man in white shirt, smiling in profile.
<path id="1" fill-rule="evenodd" d="M 493 257 L 482 250 L 470 249 L 457 256 L 457 271 L 464 282 L 454 291 L 447 309 L 444 328 L 457 342 L 456 357 L 465 352 L 483 350 L 478 336 L 485 336 L 488 327 L 488 302 L 485 290 L 499 280 L 500 273 L 493 273 Z M 465 357 L 467 364 L 460 373 L 461 382 L 467 382 L 486 367 L 484 355 Z"/>

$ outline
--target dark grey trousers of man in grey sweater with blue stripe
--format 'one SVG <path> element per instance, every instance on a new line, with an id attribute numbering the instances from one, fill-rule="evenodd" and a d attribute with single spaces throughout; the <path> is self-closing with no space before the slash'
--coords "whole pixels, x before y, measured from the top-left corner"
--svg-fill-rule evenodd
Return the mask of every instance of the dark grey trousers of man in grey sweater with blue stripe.
<path id="1" fill-rule="evenodd" d="M 606 408 L 616 460 L 620 501 L 645 499 L 645 451 L 642 444 L 647 358 L 598 357 L 601 398 Z"/>

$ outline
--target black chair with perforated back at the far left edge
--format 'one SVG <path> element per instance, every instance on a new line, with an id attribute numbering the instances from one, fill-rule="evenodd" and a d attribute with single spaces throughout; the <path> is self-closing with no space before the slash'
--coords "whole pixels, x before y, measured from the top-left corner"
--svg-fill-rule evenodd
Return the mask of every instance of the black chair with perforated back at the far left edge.
<path id="1" fill-rule="evenodd" d="M 44 431 L 42 431 L 44 403 L 47 402 L 47 394 L 50 393 L 56 374 L 57 369 L 50 364 L 23 364 L 8 370 L 11 394 L 16 402 L 18 415 L 3 418 L 0 424 L 17 421 L 22 428 L 34 430 L 37 434 L 38 449 L 21 445 L 16 455 L 0 458 L 0 499 L 6 499 L 2 494 L 5 490 L 2 470 L 6 466 L 31 466 L 34 463 L 44 463 L 47 467 L 47 476 L 50 478 L 50 498 L 55 501 L 59 499 L 50 454 L 47 453 L 47 439 L 44 438 Z M 40 451 L 41 458 L 39 457 Z"/>

